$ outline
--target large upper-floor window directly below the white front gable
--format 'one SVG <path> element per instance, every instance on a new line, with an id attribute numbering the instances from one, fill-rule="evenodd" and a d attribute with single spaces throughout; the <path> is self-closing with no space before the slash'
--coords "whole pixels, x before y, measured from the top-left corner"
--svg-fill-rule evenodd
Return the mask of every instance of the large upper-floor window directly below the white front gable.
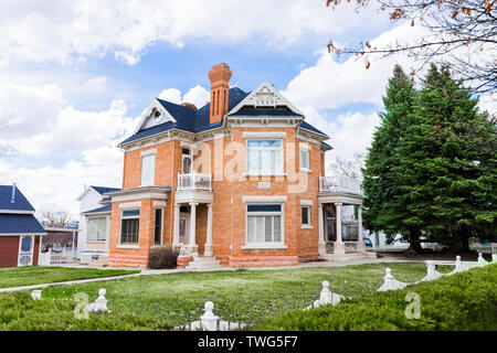
<path id="1" fill-rule="evenodd" d="M 250 175 L 283 175 L 283 141 L 247 140 L 246 173 Z"/>

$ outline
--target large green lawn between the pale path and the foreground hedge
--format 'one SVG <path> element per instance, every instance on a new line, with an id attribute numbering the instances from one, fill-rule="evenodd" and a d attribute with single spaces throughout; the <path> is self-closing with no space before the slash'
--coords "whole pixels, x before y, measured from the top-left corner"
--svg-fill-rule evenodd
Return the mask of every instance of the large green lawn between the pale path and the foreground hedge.
<path id="1" fill-rule="evenodd" d="M 205 301 L 224 320 L 254 324 L 261 318 L 303 309 L 319 298 L 322 280 L 348 297 L 372 296 L 383 282 L 387 265 L 307 267 L 279 270 L 232 270 L 139 276 L 113 281 L 0 293 L 0 330 L 170 330 L 198 320 Z M 424 264 L 389 264 L 393 276 L 413 282 L 425 276 Z M 85 292 L 93 301 L 107 290 L 110 313 L 76 320 L 73 298 Z"/>

